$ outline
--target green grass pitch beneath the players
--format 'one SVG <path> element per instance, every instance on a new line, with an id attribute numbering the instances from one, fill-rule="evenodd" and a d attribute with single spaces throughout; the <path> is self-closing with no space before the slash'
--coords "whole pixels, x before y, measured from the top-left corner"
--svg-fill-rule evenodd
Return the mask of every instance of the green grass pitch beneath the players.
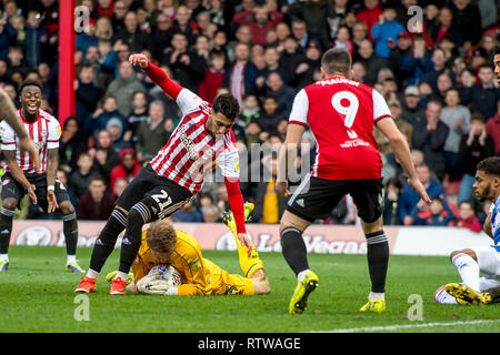
<path id="1" fill-rule="evenodd" d="M 10 268 L 0 274 L 0 332 L 182 332 L 182 333 L 289 333 L 360 328 L 368 332 L 500 332 L 500 307 L 439 305 L 437 287 L 458 281 L 447 257 L 391 256 L 383 314 L 358 310 L 366 302 L 369 277 L 366 256 L 309 254 L 320 285 L 300 316 L 288 315 L 296 285 L 292 272 L 279 253 L 262 253 L 271 293 L 264 296 L 166 297 L 108 295 L 104 275 L 118 266 L 119 251 L 108 260 L 97 293 L 88 296 L 89 321 L 74 317 L 80 303 L 73 293 L 80 277 L 64 272 L 64 248 L 12 246 Z M 90 248 L 78 251 L 88 267 Z M 236 252 L 207 251 L 231 273 L 240 273 Z M 409 321 L 408 303 L 421 295 L 423 321 Z M 78 313 L 78 312 L 77 312 Z M 472 322 L 490 320 L 492 322 Z M 464 324 L 453 324 L 466 322 Z M 416 327 L 423 323 L 434 326 Z M 446 323 L 447 325 L 439 325 Z M 370 328 L 394 325 L 410 327 Z"/>

